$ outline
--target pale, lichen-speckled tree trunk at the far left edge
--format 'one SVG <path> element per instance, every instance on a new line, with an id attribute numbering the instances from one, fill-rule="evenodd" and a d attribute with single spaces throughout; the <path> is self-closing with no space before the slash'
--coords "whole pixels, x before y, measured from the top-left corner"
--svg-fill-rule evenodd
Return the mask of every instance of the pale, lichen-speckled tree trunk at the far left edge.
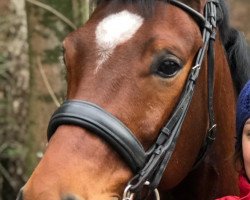
<path id="1" fill-rule="evenodd" d="M 24 184 L 29 65 L 24 0 L 0 1 L 0 199 Z"/>

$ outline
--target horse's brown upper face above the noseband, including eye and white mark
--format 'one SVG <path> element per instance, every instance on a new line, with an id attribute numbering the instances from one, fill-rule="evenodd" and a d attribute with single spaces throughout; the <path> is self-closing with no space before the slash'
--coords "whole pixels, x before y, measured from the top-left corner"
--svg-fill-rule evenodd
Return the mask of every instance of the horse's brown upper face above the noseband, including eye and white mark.
<path id="1" fill-rule="evenodd" d="M 147 146 L 171 114 L 201 45 L 197 24 L 177 7 L 157 2 L 146 19 L 110 3 L 64 41 L 68 98 L 101 106 Z"/>

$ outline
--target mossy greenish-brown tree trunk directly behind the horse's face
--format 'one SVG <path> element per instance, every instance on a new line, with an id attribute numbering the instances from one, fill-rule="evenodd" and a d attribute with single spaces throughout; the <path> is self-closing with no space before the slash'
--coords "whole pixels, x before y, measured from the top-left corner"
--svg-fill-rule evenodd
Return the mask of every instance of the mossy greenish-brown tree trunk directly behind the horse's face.
<path id="1" fill-rule="evenodd" d="M 27 0 L 26 6 L 30 55 L 27 175 L 34 170 L 46 147 L 47 125 L 58 106 L 55 99 L 61 103 L 66 94 L 65 68 L 58 59 L 62 56 L 61 42 L 73 31 L 74 24 L 82 25 L 89 15 L 88 0 L 41 2 Z M 65 23 L 67 20 L 63 18 L 73 23 Z"/>

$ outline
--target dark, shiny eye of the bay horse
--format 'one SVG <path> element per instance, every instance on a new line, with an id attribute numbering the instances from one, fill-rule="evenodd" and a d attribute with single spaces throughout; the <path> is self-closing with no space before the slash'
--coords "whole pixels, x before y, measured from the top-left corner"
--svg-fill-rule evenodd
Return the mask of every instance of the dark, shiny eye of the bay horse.
<path id="1" fill-rule="evenodd" d="M 182 68 L 181 64 L 175 60 L 167 59 L 158 63 L 155 73 L 164 78 L 171 78 Z"/>

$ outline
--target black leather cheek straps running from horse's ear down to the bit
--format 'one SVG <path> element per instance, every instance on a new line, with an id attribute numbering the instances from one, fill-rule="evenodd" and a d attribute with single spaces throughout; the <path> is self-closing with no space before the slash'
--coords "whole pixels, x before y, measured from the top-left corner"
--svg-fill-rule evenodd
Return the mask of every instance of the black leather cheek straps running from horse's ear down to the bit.
<path id="1" fill-rule="evenodd" d="M 177 2 L 170 0 L 171 2 Z M 180 2 L 179 2 L 180 3 Z M 182 6 L 182 3 L 179 5 Z M 185 5 L 185 4 L 184 4 Z M 184 7 L 185 8 L 185 7 Z M 185 8 L 186 9 L 186 8 Z M 190 8 L 191 9 L 191 8 Z M 174 114 L 166 124 L 166 126 L 162 129 L 157 141 L 156 145 L 153 147 L 153 153 L 151 154 L 151 157 L 149 161 L 147 162 L 146 166 L 141 170 L 140 174 L 136 175 L 130 182 L 130 190 L 134 193 L 138 193 L 142 190 L 143 185 L 145 181 L 149 181 L 149 187 L 151 190 L 154 190 L 160 183 L 160 180 L 163 176 L 163 173 L 168 165 L 168 162 L 171 158 L 171 155 L 174 151 L 180 129 L 182 126 L 182 123 L 184 121 L 184 118 L 186 116 L 187 110 L 189 108 L 190 102 L 192 100 L 194 87 L 196 80 L 200 73 L 200 68 L 205 56 L 205 53 L 210 51 L 210 54 L 213 54 L 213 48 L 210 45 L 213 45 L 213 42 L 211 42 L 211 38 L 214 37 L 214 33 L 216 31 L 216 12 L 214 12 L 214 9 L 216 10 L 216 4 L 214 2 L 208 2 L 205 6 L 205 26 L 203 29 L 203 47 L 199 50 L 197 54 L 197 59 L 195 61 L 195 66 L 192 68 L 188 81 L 186 83 L 185 89 L 181 95 L 180 102 L 178 103 L 176 109 L 174 110 Z M 212 11 L 212 12 L 211 12 Z M 195 11 L 189 12 L 191 14 L 196 14 Z M 198 15 L 199 17 L 199 15 Z M 214 21 L 215 20 L 215 21 Z M 212 49 L 211 49 L 212 48 Z M 209 56 L 210 56 L 209 54 Z M 213 63 L 213 57 L 208 63 L 208 67 Z M 210 69 L 213 74 L 213 68 Z M 210 82 L 213 84 L 213 76 L 210 76 Z M 209 83 L 209 87 L 210 84 Z M 209 97 L 213 97 L 213 90 L 209 89 Z M 214 123 L 214 117 L 213 117 L 213 107 L 211 106 L 213 103 L 211 103 L 211 99 L 209 100 L 209 123 Z M 210 140 L 210 134 L 208 134 L 206 141 L 209 141 L 209 143 L 205 144 L 205 151 L 204 156 L 207 152 L 207 145 L 211 146 L 212 141 Z M 211 141 L 211 142 L 210 142 Z"/>

